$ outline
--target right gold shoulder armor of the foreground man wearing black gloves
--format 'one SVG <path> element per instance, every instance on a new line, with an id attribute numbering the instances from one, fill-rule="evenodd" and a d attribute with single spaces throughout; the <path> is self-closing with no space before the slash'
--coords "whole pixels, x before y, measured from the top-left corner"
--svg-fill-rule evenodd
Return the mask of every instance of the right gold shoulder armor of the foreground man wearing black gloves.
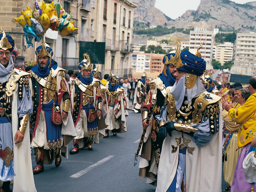
<path id="1" fill-rule="evenodd" d="M 220 96 L 208 93 L 207 91 L 203 92 L 202 95 L 200 95 L 198 98 L 196 98 L 195 103 L 193 104 L 193 107 L 195 110 L 193 111 L 193 123 L 199 124 L 202 120 L 202 114 L 205 110 L 206 106 L 210 104 L 214 104 L 220 100 Z M 218 107 L 219 108 L 219 107 Z M 207 109 L 206 109 L 207 110 Z M 214 108 L 212 108 L 214 111 Z M 215 109 L 217 110 L 217 109 Z M 220 111 L 220 110 L 218 110 Z"/>

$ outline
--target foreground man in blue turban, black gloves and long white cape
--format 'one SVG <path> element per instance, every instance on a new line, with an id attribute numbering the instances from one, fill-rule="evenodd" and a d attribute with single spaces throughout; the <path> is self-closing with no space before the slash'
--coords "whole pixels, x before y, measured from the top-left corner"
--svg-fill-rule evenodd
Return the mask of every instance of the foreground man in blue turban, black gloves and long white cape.
<path id="1" fill-rule="evenodd" d="M 206 67 L 198 52 L 201 47 L 195 55 L 181 52 L 174 63 L 176 83 L 166 88 L 168 94 L 157 116 L 158 134 L 165 139 L 156 191 L 221 190 L 221 103 L 200 81 Z"/>

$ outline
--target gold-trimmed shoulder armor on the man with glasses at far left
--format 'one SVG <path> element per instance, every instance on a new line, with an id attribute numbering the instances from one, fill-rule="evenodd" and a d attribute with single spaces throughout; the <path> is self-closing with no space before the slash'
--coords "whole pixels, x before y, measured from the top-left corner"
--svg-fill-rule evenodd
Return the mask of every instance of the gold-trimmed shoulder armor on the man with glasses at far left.
<path id="1" fill-rule="evenodd" d="M 12 74 L 6 83 L 7 91 L 5 93 L 8 97 L 10 97 L 13 94 L 13 90 L 16 89 L 17 81 L 21 81 L 23 84 L 25 84 L 25 82 L 28 82 L 28 73 L 16 68 L 12 70 Z"/>

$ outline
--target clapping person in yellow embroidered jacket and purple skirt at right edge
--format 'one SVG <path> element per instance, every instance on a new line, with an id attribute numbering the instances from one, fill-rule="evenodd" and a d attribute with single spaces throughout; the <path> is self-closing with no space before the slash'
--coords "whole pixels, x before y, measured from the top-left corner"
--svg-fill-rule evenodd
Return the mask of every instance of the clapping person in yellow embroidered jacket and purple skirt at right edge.
<path id="1" fill-rule="evenodd" d="M 234 108 L 231 102 L 225 102 L 225 110 L 228 111 L 228 116 L 232 121 L 240 124 L 238 130 L 238 148 L 242 151 L 237 159 L 236 168 L 234 172 L 231 192 L 250 191 L 256 188 L 255 183 L 248 183 L 245 178 L 243 161 L 248 153 L 256 151 L 251 146 L 252 139 L 255 137 L 256 132 L 256 76 L 251 77 L 249 80 L 248 89 L 251 96 L 244 103 L 244 105 Z"/>

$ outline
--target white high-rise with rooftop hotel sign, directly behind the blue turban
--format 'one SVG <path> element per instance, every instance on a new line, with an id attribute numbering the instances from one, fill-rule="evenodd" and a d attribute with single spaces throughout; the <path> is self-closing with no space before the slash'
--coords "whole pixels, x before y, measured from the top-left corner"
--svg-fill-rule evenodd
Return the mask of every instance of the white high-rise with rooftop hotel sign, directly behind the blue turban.
<path id="1" fill-rule="evenodd" d="M 213 49 L 213 33 L 206 28 L 196 28 L 190 31 L 189 36 L 189 52 L 194 52 L 204 42 L 200 53 L 206 61 L 206 69 L 212 69 L 212 49 Z"/>

